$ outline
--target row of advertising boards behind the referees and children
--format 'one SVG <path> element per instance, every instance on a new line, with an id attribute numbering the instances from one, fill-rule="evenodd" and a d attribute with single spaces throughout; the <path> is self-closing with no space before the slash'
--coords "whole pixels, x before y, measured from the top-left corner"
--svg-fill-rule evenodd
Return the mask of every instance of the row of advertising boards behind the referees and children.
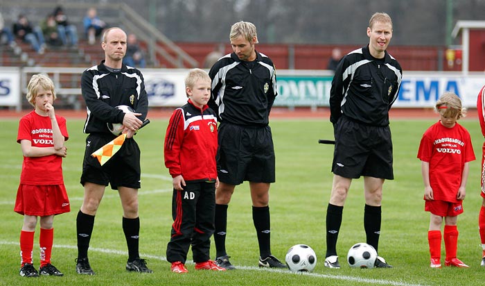
<path id="1" fill-rule="evenodd" d="M 46 73 L 56 86 L 58 96 L 82 101 L 80 76 L 84 68 L 0 67 L 0 106 L 21 110 L 28 79 Z M 145 90 L 152 107 L 182 106 L 186 102 L 184 78 L 187 69 L 141 69 Z M 333 73 L 325 70 L 277 70 L 278 96 L 274 106 L 326 107 Z M 443 92 L 460 96 L 464 107 L 476 106 L 477 92 L 485 85 L 483 73 L 404 72 L 394 107 L 430 108 Z M 73 106 L 80 106 L 80 104 Z"/>

